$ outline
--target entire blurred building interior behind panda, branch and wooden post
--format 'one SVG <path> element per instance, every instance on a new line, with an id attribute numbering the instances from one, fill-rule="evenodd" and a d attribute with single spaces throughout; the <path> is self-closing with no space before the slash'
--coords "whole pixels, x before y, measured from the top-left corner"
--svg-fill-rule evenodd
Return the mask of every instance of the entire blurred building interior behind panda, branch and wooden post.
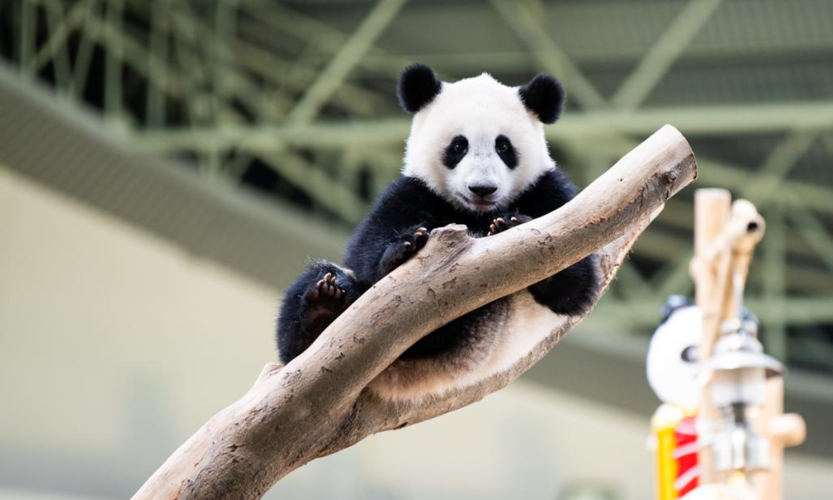
<path id="1" fill-rule="evenodd" d="M 791 500 L 833 491 L 833 2 L 0 0 L 0 498 L 129 497 L 277 358 L 281 291 L 402 163 L 411 62 L 564 82 L 586 186 L 670 122 L 766 218 L 747 305 L 791 369 Z M 693 188 L 510 388 L 267 498 L 653 497 L 646 346 Z"/>

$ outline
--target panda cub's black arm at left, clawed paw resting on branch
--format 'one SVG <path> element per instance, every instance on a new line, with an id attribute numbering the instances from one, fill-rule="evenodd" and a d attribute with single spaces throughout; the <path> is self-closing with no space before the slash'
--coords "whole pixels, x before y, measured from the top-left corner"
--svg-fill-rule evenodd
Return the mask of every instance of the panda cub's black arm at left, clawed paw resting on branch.
<path id="1" fill-rule="evenodd" d="M 344 263 L 368 287 L 376 283 L 425 245 L 428 233 L 439 225 L 436 210 L 443 204 L 416 178 L 397 179 L 347 243 Z"/>

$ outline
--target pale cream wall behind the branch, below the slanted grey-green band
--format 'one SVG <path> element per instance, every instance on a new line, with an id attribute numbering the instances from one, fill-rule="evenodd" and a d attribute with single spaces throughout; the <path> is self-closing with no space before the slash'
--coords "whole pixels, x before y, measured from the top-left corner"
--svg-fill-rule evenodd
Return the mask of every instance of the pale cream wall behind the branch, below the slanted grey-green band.
<path id="1" fill-rule="evenodd" d="M 0 498 L 129 496 L 275 358 L 277 301 L 0 168 Z M 652 498 L 647 433 L 516 383 L 310 463 L 269 497 L 551 499 L 589 481 Z M 788 498 L 829 498 L 831 472 L 794 460 Z"/>

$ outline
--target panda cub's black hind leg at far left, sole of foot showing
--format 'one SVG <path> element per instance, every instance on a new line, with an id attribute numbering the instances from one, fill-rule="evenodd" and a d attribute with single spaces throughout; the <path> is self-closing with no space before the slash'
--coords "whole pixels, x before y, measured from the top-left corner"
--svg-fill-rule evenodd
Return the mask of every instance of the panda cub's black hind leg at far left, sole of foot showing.
<path id="1" fill-rule="evenodd" d="M 287 289 L 277 319 L 277 349 L 289 363 L 363 292 L 352 273 L 326 261 L 312 263 Z"/>

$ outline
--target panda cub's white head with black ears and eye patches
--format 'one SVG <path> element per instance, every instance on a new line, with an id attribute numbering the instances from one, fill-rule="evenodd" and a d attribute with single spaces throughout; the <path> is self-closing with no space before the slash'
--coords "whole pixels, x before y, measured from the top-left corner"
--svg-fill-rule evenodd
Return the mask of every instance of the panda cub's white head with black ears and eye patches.
<path id="1" fill-rule="evenodd" d="M 402 72 L 397 93 L 414 113 L 405 175 L 458 207 L 476 213 L 505 207 L 555 168 L 544 123 L 558 119 L 564 90 L 550 75 L 522 87 L 486 73 L 448 83 L 414 64 Z"/>

